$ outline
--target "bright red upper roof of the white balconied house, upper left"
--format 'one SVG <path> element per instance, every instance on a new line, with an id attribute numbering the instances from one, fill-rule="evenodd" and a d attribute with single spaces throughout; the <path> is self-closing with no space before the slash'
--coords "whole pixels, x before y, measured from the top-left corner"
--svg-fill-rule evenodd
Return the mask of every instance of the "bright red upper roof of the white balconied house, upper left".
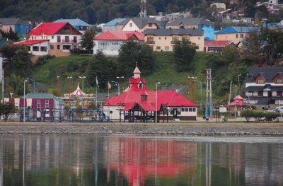
<path id="1" fill-rule="evenodd" d="M 61 30 L 65 25 L 70 25 L 72 28 L 74 28 L 74 26 L 72 26 L 68 22 L 62 22 L 62 23 L 40 23 L 39 25 L 37 25 L 37 27 L 35 27 L 35 28 L 30 30 L 30 34 L 31 35 L 42 35 L 42 34 L 54 35 L 59 30 Z M 79 32 L 79 30 L 76 30 L 76 28 L 74 28 L 74 31 L 77 32 L 78 34 L 81 34 Z"/>

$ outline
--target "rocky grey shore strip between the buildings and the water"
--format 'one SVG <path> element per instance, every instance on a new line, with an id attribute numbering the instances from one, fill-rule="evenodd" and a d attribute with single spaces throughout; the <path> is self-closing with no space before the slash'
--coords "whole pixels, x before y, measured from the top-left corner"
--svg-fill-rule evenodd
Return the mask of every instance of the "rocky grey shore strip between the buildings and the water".
<path id="1" fill-rule="evenodd" d="M 283 136 L 283 123 L 48 123 L 0 122 L 0 134 L 133 136 Z"/>

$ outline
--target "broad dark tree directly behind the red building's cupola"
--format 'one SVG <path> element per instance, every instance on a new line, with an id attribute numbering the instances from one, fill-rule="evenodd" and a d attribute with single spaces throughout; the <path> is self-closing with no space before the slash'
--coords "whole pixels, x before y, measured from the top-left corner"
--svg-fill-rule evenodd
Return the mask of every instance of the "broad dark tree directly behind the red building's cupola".
<path id="1" fill-rule="evenodd" d="M 145 74 L 151 74 L 154 71 L 155 59 L 150 47 L 131 38 L 120 47 L 117 74 L 132 76 L 136 62 Z"/>

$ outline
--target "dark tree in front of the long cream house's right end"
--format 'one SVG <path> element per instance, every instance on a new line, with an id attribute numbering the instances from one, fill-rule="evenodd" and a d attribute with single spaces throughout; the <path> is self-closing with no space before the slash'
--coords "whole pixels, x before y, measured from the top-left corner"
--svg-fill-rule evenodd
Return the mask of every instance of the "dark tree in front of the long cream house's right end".
<path id="1" fill-rule="evenodd" d="M 176 42 L 173 47 L 173 56 L 178 71 L 188 71 L 195 56 L 196 46 L 185 38 Z"/>

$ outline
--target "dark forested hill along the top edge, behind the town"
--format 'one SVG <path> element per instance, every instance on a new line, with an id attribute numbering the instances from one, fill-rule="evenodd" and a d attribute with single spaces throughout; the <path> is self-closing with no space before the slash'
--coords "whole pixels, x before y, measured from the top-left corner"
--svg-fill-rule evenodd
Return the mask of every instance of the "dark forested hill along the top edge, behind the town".
<path id="1" fill-rule="evenodd" d="M 139 16 L 141 0 L 0 0 L 0 18 L 23 18 L 51 22 L 58 18 L 81 18 L 90 24 L 112 18 Z M 171 13 L 190 10 L 200 0 L 148 0 L 147 12 Z"/>

